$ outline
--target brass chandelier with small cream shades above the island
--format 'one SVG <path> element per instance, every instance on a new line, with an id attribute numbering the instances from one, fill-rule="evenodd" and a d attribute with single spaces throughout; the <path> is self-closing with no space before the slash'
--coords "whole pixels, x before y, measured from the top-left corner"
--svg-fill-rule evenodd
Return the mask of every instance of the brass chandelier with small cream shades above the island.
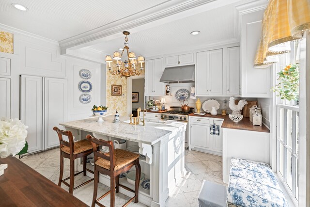
<path id="1" fill-rule="evenodd" d="M 129 35 L 130 33 L 127 31 L 124 31 L 123 34 L 125 35 L 125 43 L 124 43 L 125 47 L 123 48 L 121 54 L 120 52 L 117 52 L 117 51 L 114 52 L 113 54 L 113 60 L 116 60 L 115 67 L 117 69 L 112 70 L 111 63 L 113 62 L 113 60 L 110 55 L 106 56 L 106 63 L 109 64 L 108 69 L 110 71 L 110 74 L 112 74 L 113 76 L 119 75 L 120 77 L 125 77 L 127 79 L 127 77 L 130 77 L 130 76 L 135 76 L 135 75 L 139 76 L 141 73 L 141 70 L 144 70 L 144 68 L 142 67 L 142 63 L 144 63 L 144 57 L 139 56 L 137 60 L 136 54 L 134 52 L 129 52 L 129 48 L 128 48 L 129 44 L 128 44 L 127 35 Z M 127 51 L 128 61 L 125 60 L 123 64 L 122 56 L 125 50 Z M 138 63 L 141 64 L 140 71 L 136 69 L 136 65 L 138 65 Z"/>

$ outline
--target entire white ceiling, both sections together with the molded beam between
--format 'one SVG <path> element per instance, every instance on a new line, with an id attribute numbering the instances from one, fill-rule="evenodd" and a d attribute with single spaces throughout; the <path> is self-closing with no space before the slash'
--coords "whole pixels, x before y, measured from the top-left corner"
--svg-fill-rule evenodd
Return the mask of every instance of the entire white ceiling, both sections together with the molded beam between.
<path id="1" fill-rule="evenodd" d="M 130 51 L 151 57 L 237 41 L 235 7 L 254 1 L 0 0 L 0 24 L 61 46 L 69 42 L 76 47 L 72 49 L 85 47 L 111 55 L 124 47 L 122 31 L 127 30 Z M 29 11 L 18 11 L 11 3 Z M 195 30 L 201 33 L 191 35 Z"/>

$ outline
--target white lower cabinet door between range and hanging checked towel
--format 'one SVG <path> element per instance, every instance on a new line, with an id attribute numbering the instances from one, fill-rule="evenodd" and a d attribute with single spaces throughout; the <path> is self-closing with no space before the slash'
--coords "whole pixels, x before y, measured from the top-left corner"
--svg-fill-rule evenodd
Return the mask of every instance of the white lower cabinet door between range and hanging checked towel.
<path id="1" fill-rule="evenodd" d="M 209 148 L 209 125 L 190 125 L 190 145 Z"/>

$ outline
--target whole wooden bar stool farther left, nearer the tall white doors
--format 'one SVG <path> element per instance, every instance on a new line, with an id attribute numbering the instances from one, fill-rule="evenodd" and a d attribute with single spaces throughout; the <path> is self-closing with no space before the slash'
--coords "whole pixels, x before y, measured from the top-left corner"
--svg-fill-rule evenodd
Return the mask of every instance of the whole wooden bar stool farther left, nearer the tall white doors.
<path id="1" fill-rule="evenodd" d="M 87 183 L 93 180 L 90 179 L 78 187 L 74 188 L 74 177 L 78 174 L 83 173 L 86 175 L 86 171 L 93 173 L 93 171 L 86 168 L 86 157 L 93 153 L 93 145 L 89 140 L 80 140 L 78 142 L 73 142 L 73 136 L 71 131 L 64 131 L 59 129 L 58 127 L 53 128 L 59 138 L 60 142 L 60 174 L 59 174 L 59 181 L 58 186 L 61 186 L 62 183 L 69 187 L 69 193 L 73 194 L 73 190 L 78 189 L 79 187 L 86 185 Z M 62 140 L 62 136 L 67 136 L 69 143 Z M 63 175 L 63 158 L 70 159 L 70 176 L 62 179 Z M 83 171 L 74 174 L 74 160 L 77 158 L 83 158 Z M 70 179 L 70 184 L 66 182 L 67 179 Z"/>

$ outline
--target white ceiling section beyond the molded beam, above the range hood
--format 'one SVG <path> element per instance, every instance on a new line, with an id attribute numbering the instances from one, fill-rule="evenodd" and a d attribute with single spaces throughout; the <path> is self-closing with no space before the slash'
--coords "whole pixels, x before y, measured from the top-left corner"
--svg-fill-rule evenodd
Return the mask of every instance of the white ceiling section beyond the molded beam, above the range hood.
<path id="1" fill-rule="evenodd" d="M 132 32 L 128 36 L 130 51 L 146 57 L 169 54 L 180 50 L 206 48 L 210 44 L 237 39 L 235 32 L 234 7 L 247 0 L 229 4 L 210 11 L 188 16 L 153 28 Z M 200 31 L 191 35 L 192 31 Z M 130 32 L 130 30 L 129 30 Z M 121 32 L 120 32 L 121 33 Z M 99 51 L 113 54 L 124 47 L 124 35 L 90 46 Z"/>

